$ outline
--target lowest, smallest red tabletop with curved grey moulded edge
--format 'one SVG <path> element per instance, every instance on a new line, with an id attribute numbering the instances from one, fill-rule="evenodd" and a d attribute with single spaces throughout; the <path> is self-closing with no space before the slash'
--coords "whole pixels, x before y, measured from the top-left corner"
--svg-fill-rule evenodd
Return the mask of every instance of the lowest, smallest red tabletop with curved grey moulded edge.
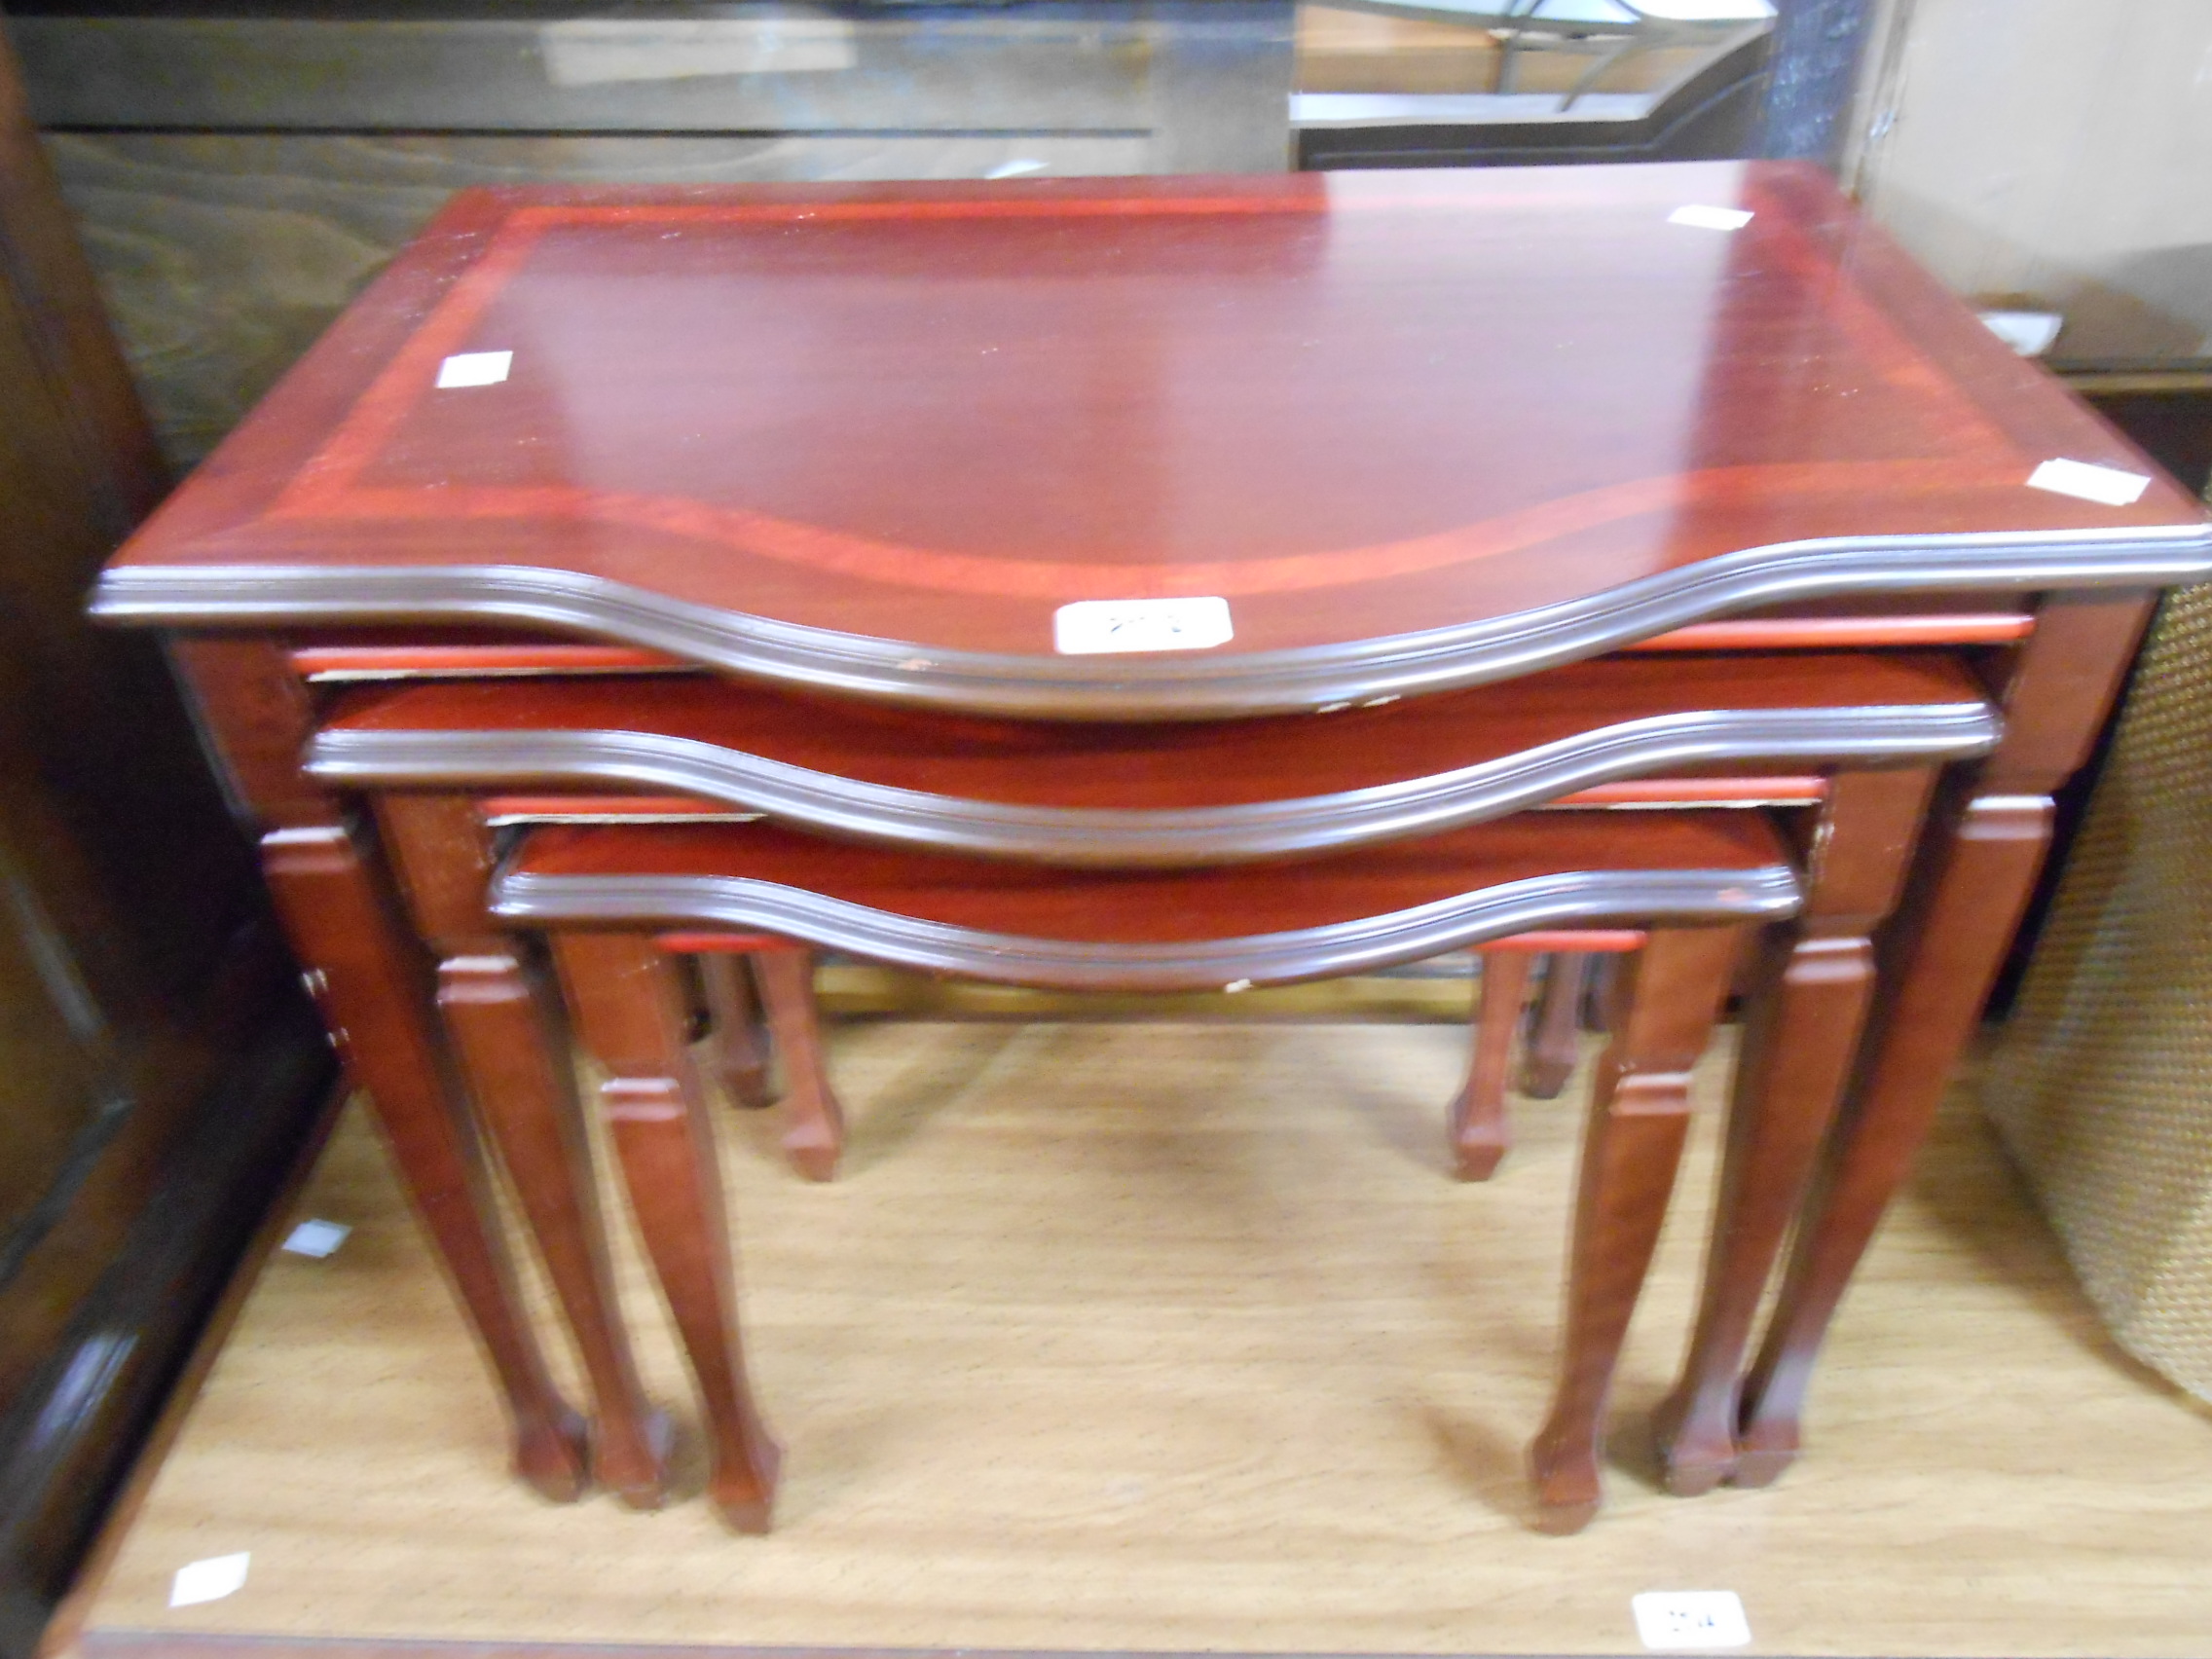
<path id="1" fill-rule="evenodd" d="M 500 867 L 489 907 L 515 927 L 765 933 L 931 973 L 1097 991 L 1245 991 L 1548 929 L 1697 931 L 1796 914 L 1796 872 L 1767 814 L 1626 816 L 1522 814 L 1203 869 L 1046 869 L 768 823 L 549 825 Z"/>

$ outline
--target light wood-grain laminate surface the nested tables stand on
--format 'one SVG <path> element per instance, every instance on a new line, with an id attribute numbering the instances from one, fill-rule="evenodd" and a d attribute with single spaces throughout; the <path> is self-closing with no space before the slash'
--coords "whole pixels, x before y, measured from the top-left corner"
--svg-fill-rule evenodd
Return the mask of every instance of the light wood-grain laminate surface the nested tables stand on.
<path id="1" fill-rule="evenodd" d="M 358 1108 L 77 1644 L 144 1632 L 495 1644 L 1637 1652 L 1630 1595 L 1736 1590 L 1754 1648 L 2201 1655 L 2212 1418 L 2104 1338 L 1960 1104 L 1871 1254 L 1776 1489 L 1528 1528 L 1577 1108 L 1444 1177 L 1449 1024 L 856 1022 L 830 1188 L 728 1113 L 779 1528 L 635 1515 L 502 1471 L 478 1358 Z M 1626 1425 L 1694 1287 L 1699 1155 L 1632 1336 Z M 1573 1088 L 1579 1097 L 1582 1079 Z M 624 1259 L 644 1363 L 688 1398 Z M 168 1608 L 186 1562 L 234 1595 Z"/>

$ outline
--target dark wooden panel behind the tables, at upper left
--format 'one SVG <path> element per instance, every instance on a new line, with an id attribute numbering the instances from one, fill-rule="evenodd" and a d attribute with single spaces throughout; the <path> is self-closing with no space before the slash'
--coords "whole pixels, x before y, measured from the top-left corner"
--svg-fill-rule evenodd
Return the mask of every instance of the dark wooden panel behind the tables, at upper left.
<path id="1" fill-rule="evenodd" d="M 1292 0 L 577 11 L 11 7 L 173 465 L 462 186 L 1290 166 Z"/>

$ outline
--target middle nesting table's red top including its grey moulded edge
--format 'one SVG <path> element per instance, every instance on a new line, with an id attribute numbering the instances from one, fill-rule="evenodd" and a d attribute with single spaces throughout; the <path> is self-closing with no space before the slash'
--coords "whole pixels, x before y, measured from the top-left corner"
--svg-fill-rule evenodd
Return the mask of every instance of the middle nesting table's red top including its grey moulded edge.
<path id="1" fill-rule="evenodd" d="M 1155 726 L 960 719 L 706 677 L 403 684 L 332 699 L 334 787 L 661 790 L 940 852 L 1164 865 L 1402 838 L 1747 763 L 1966 759 L 1997 739 L 1955 657 L 1615 657 L 1325 719 Z M 1736 765 L 1728 765 L 1736 763 Z M 1703 781 L 1739 790 L 1756 779 Z M 1818 790 L 1818 783 L 1814 781 Z M 1688 794 L 1686 794 L 1688 790 Z M 1637 799 L 1626 796 L 1601 799 Z M 1754 794 L 1756 799 L 1756 794 Z"/>

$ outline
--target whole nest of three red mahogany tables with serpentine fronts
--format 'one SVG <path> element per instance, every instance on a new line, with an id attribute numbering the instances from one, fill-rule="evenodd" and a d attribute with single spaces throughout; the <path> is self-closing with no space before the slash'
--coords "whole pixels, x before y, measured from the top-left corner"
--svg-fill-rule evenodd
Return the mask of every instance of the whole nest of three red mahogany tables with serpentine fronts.
<path id="1" fill-rule="evenodd" d="M 1683 206 L 1750 221 L 1681 223 Z M 469 354 L 511 356 L 438 385 Z M 2031 487 L 2053 460 L 2141 491 L 2110 504 Z M 562 836 L 637 836 L 622 845 L 661 849 L 644 860 L 741 836 L 759 856 L 734 887 L 641 905 L 635 887 L 599 891 L 622 929 L 577 938 L 606 940 L 650 995 L 595 1002 L 611 971 L 562 960 L 584 1024 L 622 1033 L 604 1040 L 622 1060 L 599 1106 L 633 1181 L 666 1197 L 648 1245 L 684 1281 L 679 1323 L 717 1400 L 714 1491 L 757 1526 L 774 1451 L 719 1336 L 728 1263 L 697 1243 L 719 1219 L 677 1053 L 692 987 L 653 967 L 664 922 L 717 949 L 843 938 L 1042 984 L 1305 978 L 1436 945 L 1451 927 L 1425 905 L 1473 940 L 1482 918 L 1453 911 L 1418 847 L 1511 843 L 1535 869 L 1546 836 L 1582 830 L 1528 807 L 1809 805 L 1796 816 L 1820 830 L 1783 872 L 1805 914 L 1743 987 L 1721 1225 L 1661 1416 L 1677 1491 L 1770 1480 L 2002 960 L 2051 792 L 2086 757 L 2157 591 L 2205 575 L 2197 504 L 1823 175 L 1694 164 L 465 192 L 126 546 L 95 611 L 184 635 L 217 748 L 270 832 L 294 945 L 544 1491 L 575 1491 L 582 1444 L 518 1318 L 462 1088 L 498 1095 L 478 1104 L 509 1172 L 540 1186 L 524 1212 L 549 1239 L 588 1232 L 562 1082 L 531 1055 L 535 958 L 473 909 L 434 920 L 418 905 L 418 938 L 400 933 L 392 847 L 367 825 L 380 816 L 398 845 L 398 792 L 431 790 L 478 821 L 593 821 L 531 830 L 544 860 L 584 845 Z M 1157 599 L 1219 599 L 1228 633 L 1062 650 L 1082 644 L 1060 633 L 1064 606 Z M 1728 666 L 1743 686 L 1728 743 L 1626 763 L 1615 728 L 1725 653 L 1759 653 Z M 1940 697 L 1966 697 L 1955 708 L 1993 699 L 2002 734 L 1982 706 L 1975 732 L 1905 748 L 1807 721 L 1834 712 L 1843 679 L 1929 661 L 1949 675 L 1929 681 Z M 445 684 L 343 684 L 363 677 Z M 1902 697 L 1885 721 L 1931 708 Z M 723 759 L 686 772 L 664 743 L 635 772 L 595 739 L 582 761 L 573 743 L 549 761 L 515 745 L 549 710 L 597 710 L 571 737 L 695 721 L 675 759 Z M 363 741 L 438 732 L 465 741 L 363 759 Z M 1533 772 L 1436 787 L 1526 745 L 1546 754 Z M 1913 768 L 1929 765 L 1949 772 L 1922 827 Z M 763 776 L 785 792 L 761 794 Z M 1409 785 L 1458 796 L 1422 818 L 1394 805 Z M 728 823 L 752 810 L 783 823 Z M 1133 823 L 1146 814 L 1159 823 Z M 684 823 L 701 816 L 719 823 Z M 1670 823 L 1701 814 L 1577 816 L 1606 821 L 1613 874 L 1710 832 Z M 1002 863 L 914 887 L 925 867 L 978 867 L 962 854 Z M 1318 914 L 1279 858 L 1345 860 L 1363 896 Z M 469 865 L 478 902 L 480 852 L 431 863 Z M 883 898 L 900 869 L 911 902 L 856 922 L 856 894 Z M 845 909 L 823 898 L 836 883 L 854 885 Z M 526 883 L 507 891 L 500 920 L 529 925 L 526 898 Z M 1369 925 L 1400 900 L 1411 916 L 1387 911 L 1378 945 Z M 1298 938 L 1217 951 L 1175 933 L 1203 933 L 1190 918 L 1208 905 Z M 1062 945 L 1077 916 L 1091 931 L 1011 960 L 982 916 L 1024 916 Z M 1517 916 L 1542 929 L 1597 911 Z M 1734 916 L 1655 927 L 1617 987 L 1571 1354 L 1619 1340 L 1626 1307 L 1606 1285 L 1641 1276 L 1681 1146 L 1679 1073 L 1719 1006 Z M 772 1024 L 801 1033 L 799 958 L 754 969 Z M 1566 1051 L 1559 984 L 1540 1082 Z M 752 1015 L 714 989 L 741 1037 L 723 1064 L 752 1091 Z M 1502 1000 L 1493 1013 L 1504 1026 Z M 787 1073 L 814 1062 L 810 1040 L 783 1046 Z M 1478 1161 L 1498 1139 L 1480 1124 L 1493 1073 L 1462 1124 Z M 827 1170 L 834 1099 L 816 1084 L 801 1073 L 794 1124 Z M 1794 1259 L 1739 1385 L 1785 1232 Z M 626 1464 L 599 1473 L 650 1500 L 650 1407 L 606 1329 L 599 1259 L 575 1243 L 557 1279 L 597 1327 L 602 1444 Z M 1610 1363 L 1577 1365 L 1537 1453 L 1555 1520 L 1595 1500 Z"/>

